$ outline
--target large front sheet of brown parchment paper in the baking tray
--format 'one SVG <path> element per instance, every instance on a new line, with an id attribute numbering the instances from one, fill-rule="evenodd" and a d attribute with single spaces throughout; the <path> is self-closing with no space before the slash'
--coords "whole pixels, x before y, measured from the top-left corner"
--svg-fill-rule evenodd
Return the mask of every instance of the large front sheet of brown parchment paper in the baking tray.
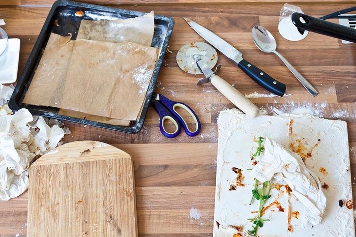
<path id="1" fill-rule="evenodd" d="M 157 49 L 130 42 L 65 43 L 68 38 L 52 35 L 23 103 L 136 120 Z"/>

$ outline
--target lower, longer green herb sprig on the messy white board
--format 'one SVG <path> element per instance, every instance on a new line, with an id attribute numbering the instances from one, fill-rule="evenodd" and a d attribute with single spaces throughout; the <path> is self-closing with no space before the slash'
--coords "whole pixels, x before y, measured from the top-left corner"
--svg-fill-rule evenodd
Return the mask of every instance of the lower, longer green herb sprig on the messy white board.
<path id="1" fill-rule="evenodd" d="M 264 189 L 266 187 L 267 187 L 267 192 L 264 191 Z M 257 232 L 257 228 L 258 227 L 262 227 L 264 221 L 269 221 L 269 219 L 261 219 L 261 210 L 262 210 L 262 207 L 263 207 L 264 203 L 267 201 L 267 199 L 269 199 L 271 197 L 270 191 L 271 191 L 271 182 L 270 181 L 266 181 L 266 182 L 262 183 L 261 194 L 258 192 L 257 187 L 252 190 L 252 195 L 257 200 L 259 200 L 259 209 L 258 209 L 256 218 L 247 219 L 249 221 L 253 221 L 253 224 L 254 224 L 254 226 L 252 226 L 253 229 L 247 231 L 251 235 L 255 236 L 256 232 Z"/>

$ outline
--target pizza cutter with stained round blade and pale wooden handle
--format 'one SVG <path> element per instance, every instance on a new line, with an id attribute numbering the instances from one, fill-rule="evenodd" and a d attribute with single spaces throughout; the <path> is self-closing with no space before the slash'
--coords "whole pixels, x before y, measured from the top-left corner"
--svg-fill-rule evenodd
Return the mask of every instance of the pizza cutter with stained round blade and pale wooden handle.
<path id="1" fill-rule="evenodd" d="M 226 82 L 223 78 L 216 75 L 221 65 L 216 66 L 218 62 L 216 50 L 209 44 L 203 42 L 192 42 L 184 45 L 176 56 L 178 66 L 185 72 L 191 74 L 204 74 L 204 78 L 198 81 L 198 85 L 211 82 L 231 103 L 241 109 L 250 117 L 256 117 L 259 109 L 241 92 Z"/>

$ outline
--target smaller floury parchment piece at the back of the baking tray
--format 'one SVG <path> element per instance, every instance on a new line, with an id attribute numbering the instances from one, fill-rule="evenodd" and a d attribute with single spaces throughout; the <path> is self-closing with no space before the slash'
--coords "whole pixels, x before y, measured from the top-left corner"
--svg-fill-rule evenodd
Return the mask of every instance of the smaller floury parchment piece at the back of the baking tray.
<path id="1" fill-rule="evenodd" d="M 82 20 L 77 39 L 105 42 L 133 42 L 151 46 L 155 28 L 155 14 L 124 20 Z"/>

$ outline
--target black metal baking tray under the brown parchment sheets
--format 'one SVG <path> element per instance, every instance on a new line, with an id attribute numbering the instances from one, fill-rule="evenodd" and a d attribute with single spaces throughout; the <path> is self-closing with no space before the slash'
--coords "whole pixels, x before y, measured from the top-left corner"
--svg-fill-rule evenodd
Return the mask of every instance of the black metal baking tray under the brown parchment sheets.
<path id="1" fill-rule="evenodd" d="M 83 17 L 74 16 L 74 13 L 82 10 L 84 12 Z M 34 72 L 40 62 L 43 51 L 46 47 L 49 35 L 55 33 L 62 36 L 68 36 L 68 33 L 72 34 L 72 40 L 77 38 L 78 29 L 82 19 L 86 20 L 98 20 L 98 19 L 109 19 L 109 18 L 132 18 L 137 16 L 143 16 L 146 13 L 129 11 L 125 9 L 110 8 L 86 3 L 78 3 L 71 1 L 56 1 L 49 14 L 45 23 L 43 24 L 42 30 L 36 44 L 28 57 L 22 74 L 17 82 L 15 91 L 11 96 L 9 101 L 9 107 L 12 110 L 19 110 L 21 108 L 28 109 L 32 114 L 53 117 L 58 120 L 71 121 L 75 123 L 96 126 L 100 128 L 112 129 L 116 131 L 126 132 L 126 133 L 137 133 L 142 129 L 143 121 L 149 108 L 151 97 L 155 89 L 158 73 L 161 69 L 161 65 L 164 59 L 164 55 L 168 46 L 169 38 L 172 33 L 174 26 L 174 20 L 168 16 L 155 15 L 155 32 L 152 41 L 152 47 L 161 49 L 156 68 L 153 72 L 152 79 L 144 99 L 143 109 L 138 120 L 131 122 L 130 126 L 115 126 L 105 123 L 99 123 L 95 121 L 79 119 L 76 117 L 65 116 L 57 114 L 58 108 L 45 107 L 45 106 L 35 106 L 29 104 L 23 104 L 23 98 L 26 94 L 27 88 L 31 83 Z M 54 25 L 54 20 L 60 22 L 60 26 Z"/>

